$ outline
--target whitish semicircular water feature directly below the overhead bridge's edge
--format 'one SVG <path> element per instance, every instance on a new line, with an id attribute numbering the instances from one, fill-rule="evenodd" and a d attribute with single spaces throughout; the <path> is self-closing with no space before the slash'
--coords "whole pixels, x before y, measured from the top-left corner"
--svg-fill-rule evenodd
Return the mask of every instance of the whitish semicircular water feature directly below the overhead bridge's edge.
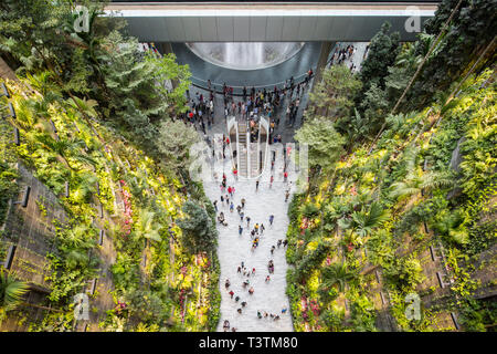
<path id="1" fill-rule="evenodd" d="M 219 66 L 234 70 L 257 70 L 277 65 L 294 56 L 305 42 L 230 42 L 187 43 L 201 59 Z"/>

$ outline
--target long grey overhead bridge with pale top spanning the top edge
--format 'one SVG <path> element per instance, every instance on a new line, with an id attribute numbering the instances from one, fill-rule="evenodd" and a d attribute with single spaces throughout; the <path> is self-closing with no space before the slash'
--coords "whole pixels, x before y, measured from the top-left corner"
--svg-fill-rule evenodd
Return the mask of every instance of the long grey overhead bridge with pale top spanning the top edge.
<path id="1" fill-rule="evenodd" d="M 413 41 L 406 21 L 419 19 L 422 28 L 438 2 L 114 1 L 105 12 L 125 18 L 144 42 L 368 42 L 384 21 Z"/>

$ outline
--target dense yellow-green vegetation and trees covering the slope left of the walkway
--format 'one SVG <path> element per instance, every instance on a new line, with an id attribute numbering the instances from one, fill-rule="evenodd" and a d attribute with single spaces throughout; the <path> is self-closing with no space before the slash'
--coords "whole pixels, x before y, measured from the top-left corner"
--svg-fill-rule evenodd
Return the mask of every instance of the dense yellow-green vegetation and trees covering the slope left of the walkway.
<path id="1" fill-rule="evenodd" d="M 85 4 L 91 9 L 87 33 L 76 33 L 70 1 L 0 4 L 0 53 L 19 77 L 6 82 L 11 98 L 1 98 L 2 106 L 12 103 L 17 117 L 0 122 L 0 218 L 18 192 L 17 163 L 59 197 L 55 208 L 68 216 L 53 222 L 55 249 L 46 254 L 50 294 L 38 303 L 52 311 L 27 317 L 29 304 L 14 302 L 0 314 L 8 311 L 8 317 L 32 331 L 72 330 L 73 296 L 108 266 L 109 293 L 92 295 L 97 300 L 92 312 L 104 312 L 101 330 L 214 330 L 216 232 L 210 229 L 207 242 L 193 239 L 187 226 L 199 215 L 204 225 L 214 225 L 214 212 L 202 186 L 183 170 L 193 139 L 177 155 L 166 154 L 162 145 L 171 134 L 167 126 L 186 110 L 188 66 L 178 65 L 172 54 L 140 52 L 136 39 L 123 34 L 119 20 L 98 17 L 102 4 Z M 19 129 L 19 146 L 12 126 Z M 176 129 L 194 136 L 184 125 Z M 53 207 L 35 201 L 42 216 Z M 103 251 L 95 221 L 99 205 L 105 215 L 99 222 L 115 250 L 110 264 L 97 257 Z M 0 236 L 2 259 L 6 237 Z M 1 291 L 3 296 L 7 290 Z M 98 308 L 98 299 L 109 295 L 115 308 Z"/>

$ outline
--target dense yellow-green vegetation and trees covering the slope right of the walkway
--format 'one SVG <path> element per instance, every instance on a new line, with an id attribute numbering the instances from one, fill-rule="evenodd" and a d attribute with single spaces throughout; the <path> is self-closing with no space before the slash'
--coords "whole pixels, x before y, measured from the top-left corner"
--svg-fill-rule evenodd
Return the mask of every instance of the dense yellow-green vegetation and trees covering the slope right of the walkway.
<path id="1" fill-rule="evenodd" d="M 359 74 L 331 66 L 310 96 L 296 133 L 309 188 L 292 201 L 287 233 L 298 331 L 443 331 L 451 313 L 467 331 L 495 330 L 495 305 L 475 299 L 495 285 L 482 281 L 496 260 L 495 51 L 482 55 L 495 1 L 462 2 L 392 113 L 456 2 L 414 43 L 383 25 Z"/>

